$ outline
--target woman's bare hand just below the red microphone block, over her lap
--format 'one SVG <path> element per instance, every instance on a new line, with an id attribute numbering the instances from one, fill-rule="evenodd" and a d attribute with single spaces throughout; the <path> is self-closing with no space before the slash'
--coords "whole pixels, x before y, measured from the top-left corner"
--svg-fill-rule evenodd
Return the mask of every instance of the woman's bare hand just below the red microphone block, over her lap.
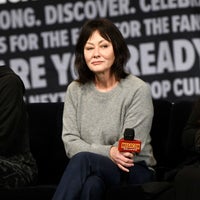
<path id="1" fill-rule="evenodd" d="M 116 165 L 123 171 L 129 172 L 129 167 L 134 165 L 133 163 L 133 153 L 130 152 L 120 152 L 117 147 L 110 148 L 111 160 L 116 163 Z"/>

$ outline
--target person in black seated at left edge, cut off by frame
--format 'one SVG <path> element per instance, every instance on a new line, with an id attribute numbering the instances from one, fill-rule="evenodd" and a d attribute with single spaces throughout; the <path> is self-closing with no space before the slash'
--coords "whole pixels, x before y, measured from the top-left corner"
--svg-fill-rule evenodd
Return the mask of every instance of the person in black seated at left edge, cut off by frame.
<path id="1" fill-rule="evenodd" d="M 30 185 L 37 177 L 29 147 L 24 92 L 19 76 L 0 66 L 0 188 Z"/>

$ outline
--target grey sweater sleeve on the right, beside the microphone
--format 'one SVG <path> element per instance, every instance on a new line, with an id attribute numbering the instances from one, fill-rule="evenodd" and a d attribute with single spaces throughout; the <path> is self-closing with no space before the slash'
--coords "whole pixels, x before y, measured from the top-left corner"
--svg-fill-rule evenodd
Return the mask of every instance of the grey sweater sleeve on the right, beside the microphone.
<path id="1" fill-rule="evenodd" d="M 134 162 L 145 161 L 148 166 L 154 166 L 156 160 L 150 136 L 154 110 L 149 85 L 142 84 L 132 98 L 132 103 L 126 112 L 124 129 L 133 127 L 135 139 L 141 141 L 141 152 L 134 157 Z"/>

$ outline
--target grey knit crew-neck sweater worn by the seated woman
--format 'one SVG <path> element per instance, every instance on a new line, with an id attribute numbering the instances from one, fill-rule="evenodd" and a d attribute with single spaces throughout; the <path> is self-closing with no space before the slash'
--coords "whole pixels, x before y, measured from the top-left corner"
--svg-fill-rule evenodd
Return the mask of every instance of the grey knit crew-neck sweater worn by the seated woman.
<path id="1" fill-rule="evenodd" d="M 73 81 L 67 88 L 63 112 L 63 132 L 67 156 L 88 151 L 109 157 L 126 128 L 135 129 L 142 150 L 134 161 L 156 161 L 150 145 L 153 105 L 149 86 L 128 75 L 109 92 L 99 92 L 94 84 Z"/>

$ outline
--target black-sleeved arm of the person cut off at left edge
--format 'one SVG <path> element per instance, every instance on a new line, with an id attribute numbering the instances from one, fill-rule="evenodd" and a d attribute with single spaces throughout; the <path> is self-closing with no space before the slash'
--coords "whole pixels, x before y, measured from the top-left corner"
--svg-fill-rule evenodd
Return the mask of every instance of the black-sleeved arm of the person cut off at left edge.
<path id="1" fill-rule="evenodd" d="M 18 133 L 23 130 L 24 86 L 14 73 L 1 77 L 0 86 L 0 155 L 15 153 Z M 17 152 L 16 152 L 17 153 Z"/>

